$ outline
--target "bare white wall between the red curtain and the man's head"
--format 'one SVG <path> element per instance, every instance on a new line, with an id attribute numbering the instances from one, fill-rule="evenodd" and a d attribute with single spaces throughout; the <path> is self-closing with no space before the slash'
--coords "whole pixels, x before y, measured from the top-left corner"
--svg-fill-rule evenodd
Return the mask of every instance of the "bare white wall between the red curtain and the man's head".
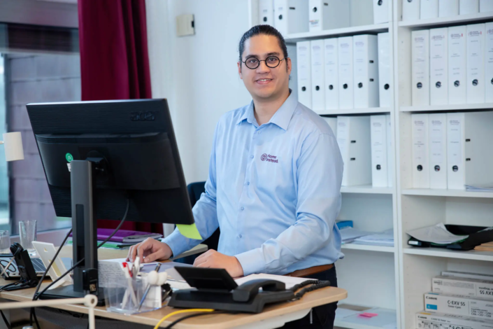
<path id="1" fill-rule="evenodd" d="M 146 0 L 152 97 L 168 99 L 187 183 L 205 181 L 215 124 L 248 104 L 238 78 L 238 42 L 248 0 Z M 195 35 L 176 36 L 176 16 L 194 14 Z"/>

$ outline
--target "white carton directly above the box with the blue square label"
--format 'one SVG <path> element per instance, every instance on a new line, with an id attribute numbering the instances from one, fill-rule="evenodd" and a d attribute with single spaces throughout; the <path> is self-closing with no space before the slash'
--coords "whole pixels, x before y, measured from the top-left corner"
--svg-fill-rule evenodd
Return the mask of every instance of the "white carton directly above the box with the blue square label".
<path id="1" fill-rule="evenodd" d="M 435 276 L 431 286 L 434 293 L 493 299 L 493 281 L 454 276 Z"/>

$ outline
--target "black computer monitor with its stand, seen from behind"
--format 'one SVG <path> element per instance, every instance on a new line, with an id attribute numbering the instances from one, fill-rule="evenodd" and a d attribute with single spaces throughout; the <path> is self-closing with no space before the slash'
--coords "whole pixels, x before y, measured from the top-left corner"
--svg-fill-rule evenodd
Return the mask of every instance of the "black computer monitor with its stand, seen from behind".
<path id="1" fill-rule="evenodd" d="M 72 286 L 43 297 L 94 291 L 97 219 L 192 224 L 166 99 L 27 104 L 57 216 L 72 217 Z M 97 276 L 96 276 L 97 279 Z M 85 286 L 84 286 L 85 285 Z M 101 297 L 102 299 L 102 297 Z"/>

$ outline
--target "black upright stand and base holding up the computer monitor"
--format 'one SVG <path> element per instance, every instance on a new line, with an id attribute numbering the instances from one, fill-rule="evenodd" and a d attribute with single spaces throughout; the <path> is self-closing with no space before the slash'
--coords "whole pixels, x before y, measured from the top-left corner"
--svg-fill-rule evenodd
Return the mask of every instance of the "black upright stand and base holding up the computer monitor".
<path id="1" fill-rule="evenodd" d="M 39 299 L 61 299 L 97 295 L 98 306 L 104 305 L 103 289 L 98 283 L 97 221 L 94 211 L 95 172 L 103 158 L 72 160 L 71 202 L 72 202 L 72 248 L 73 285 L 47 290 Z M 68 274 L 67 274 L 68 275 Z"/>

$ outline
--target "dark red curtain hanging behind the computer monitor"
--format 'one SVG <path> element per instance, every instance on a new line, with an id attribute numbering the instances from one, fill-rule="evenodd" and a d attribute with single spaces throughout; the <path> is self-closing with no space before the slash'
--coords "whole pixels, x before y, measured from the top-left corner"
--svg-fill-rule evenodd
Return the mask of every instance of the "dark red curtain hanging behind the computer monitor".
<path id="1" fill-rule="evenodd" d="M 82 100 L 152 98 L 145 0 L 79 0 L 78 15 Z M 98 221 L 99 228 L 117 224 Z M 122 229 L 162 233 L 161 224 Z"/>

